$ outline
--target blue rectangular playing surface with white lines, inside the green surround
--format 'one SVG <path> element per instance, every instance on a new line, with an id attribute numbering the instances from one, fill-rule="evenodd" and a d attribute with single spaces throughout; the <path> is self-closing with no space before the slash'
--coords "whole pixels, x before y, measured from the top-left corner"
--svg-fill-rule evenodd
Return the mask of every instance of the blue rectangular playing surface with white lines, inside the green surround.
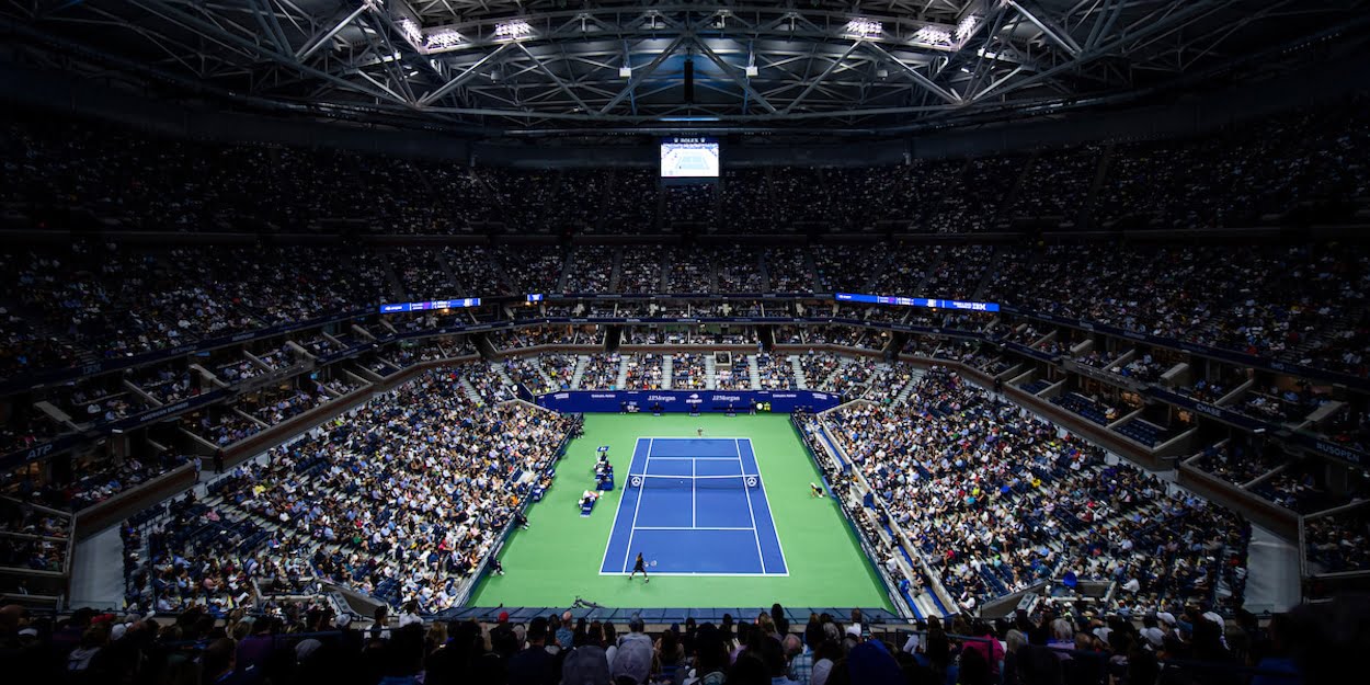
<path id="1" fill-rule="evenodd" d="M 601 575 L 789 575 L 748 438 L 641 437 Z"/>

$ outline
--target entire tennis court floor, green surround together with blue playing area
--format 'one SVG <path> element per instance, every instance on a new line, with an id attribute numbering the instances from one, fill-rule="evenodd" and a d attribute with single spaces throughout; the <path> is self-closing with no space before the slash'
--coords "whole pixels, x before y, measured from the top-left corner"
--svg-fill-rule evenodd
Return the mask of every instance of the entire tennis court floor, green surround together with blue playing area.
<path id="1" fill-rule="evenodd" d="M 706 443 L 695 443 L 700 429 Z M 667 436 L 674 440 L 663 438 Z M 647 470 L 648 441 L 651 471 Z M 581 495 L 595 486 L 600 445 L 610 448 L 615 488 L 603 493 L 590 516 L 581 516 Z M 630 471 L 640 475 L 759 474 L 759 478 L 756 488 L 748 490 L 743 490 L 743 485 L 719 482 L 710 485 L 722 488 L 693 492 L 681 488 L 684 481 L 671 488 L 648 484 L 638 510 L 643 490 L 630 485 Z M 527 510 L 530 527 L 515 529 L 497 552 L 508 573 L 485 575 L 469 606 L 566 608 L 575 597 L 584 597 L 618 608 L 733 607 L 734 616 L 741 614 L 737 607 L 756 607 L 758 603 L 769 607 L 773 601 L 786 607 L 888 608 L 888 593 L 836 500 L 810 496 L 808 484 L 819 478 L 785 415 L 586 414 L 585 434 L 570 444 L 566 458 L 558 463 L 556 478 L 543 501 Z M 708 492 L 697 496 L 703 490 Z M 747 493 L 754 497 L 751 512 L 759 518 L 755 529 L 748 516 Z M 764 504 L 758 496 L 766 497 Z M 632 504 L 621 507 L 623 499 Z M 759 514 L 762 506 L 769 515 Z M 633 533 L 634 518 L 638 526 L 752 530 L 660 532 L 670 540 L 640 544 L 638 536 L 656 533 Z M 780 543 L 771 541 L 771 529 Z M 615 532 L 621 540 L 610 543 Z M 721 534 L 743 540 L 719 543 Z M 771 549 L 764 553 L 764 569 L 756 552 L 758 540 L 764 549 Z M 607 544 L 615 547 L 616 556 L 608 555 L 612 566 L 606 571 Z M 648 571 L 664 575 L 652 575 L 652 582 L 644 584 L 638 574 L 637 582 L 627 582 L 623 553 L 629 548 L 633 555 L 627 559 L 629 573 L 633 558 L 641 551 L 647 559 L 656 556 L 658 566 Z M 778 574 L 780 564 L 784 564 L 784 575 Z"/>

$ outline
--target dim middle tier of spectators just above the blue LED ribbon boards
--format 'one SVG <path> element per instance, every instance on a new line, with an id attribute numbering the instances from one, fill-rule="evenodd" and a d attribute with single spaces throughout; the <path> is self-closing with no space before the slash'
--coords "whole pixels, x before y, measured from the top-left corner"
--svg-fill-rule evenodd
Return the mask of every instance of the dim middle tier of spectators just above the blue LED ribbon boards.
<path id="1" fill-rule="evenodd" d="M 45 251 L 15 260 L 11 285 L 22 303 L 10 314 L 15 332 L 8 348 L 25 358 L 25 340 L 38 345 L 60 341 L 90 356 L 126 356 L 204 338 L 245 333 L 274 323 L 340 314 L 382 297 L 389 284 L 406 297 L 443 297 L 458 290 L 447 264 L 463 263 L 471 278 L 499 281 L 499 273 L 522 288 L 606 292 L 615 274 L 621 290 L 660 290 L 664 282 L 774 290 L 874 288 L 908 295 L 978 297 L 1029 311 L 1110 325 L 1129 333 L 1155 334 L 1240 353 L 1293 362 L 1349 375 L 1370 373 L 1363 362 L 1370 348 L 1370 255 L 1354 245 L 1226 247 L 1070 245 L 899 247 L 886 255 L 882 245 L 827 245 L 738 249 L 726 255 L 706 249 L 666 251 L 659 247 L 625 248 L 622 256 L 607 247 L 577 247 L 562 264 L 562 252 L 529 249 L 532 263 L 507 248 L 443 251 L 396 248 L 386 253 L 349 253 L 333 248 L 289 247 L 215 251 L 177 248 L 170 252 L 130 251 L 114 245 L 74 242 L 67 253 Z M 222 252 L 222 253 L 221 253 Z M 811 270 L 810 260 L 817 264 Z M 493 260 L 499 260 L 496 267 Z M 717 262 L 717 266 L 715 266 Z M 475 263 L 486 263 L 477 269 Z M 240 264 L 251 264 L 244 269 Z M 359 269 L 358 264 L 367 266 Z M 664 264 L 664 269 L 663 269 Z M 526 267 L 526 269 L 523 269 Z M 754 269 L 755 267 L 755 269 Z M 496 273 L 496 270 L 499 273 Z M 764 271 L 763 271 L 764 270 Z M 389 274 L 388 274 L 389 271 Z M 564 271 L 564 274 L 562 273 Z M 55 274 L 60 273 L 62 278 Z M 762 281 L 762 277 L 766 281 Z M 497 289 L 497 284 L 490 288 Z M 522 289 L 521 288 L 521 289 Z M 141 293 L 141 295 L 140 295 Z M 559 308 L 569 307 L 566 312 Z M 788 315 L 788 304 L 747 303 L 637 303 L 595 301 L 548 304 L 545 315 L 595 316 L 725 316 Z M 555 310 L 555 311 L 553 311 Z M 807 310 L 814 310 L 807 307 Z M 538 307 L 514 307 L 515 318 Z M 818 310 L 822 312 L 822 308 Z M 808 312 L 808 311 L 806 311 Z M 923 312 L 911 308 L 841 308 L 844 316 L 871 322 L 980 329 L 989 316 Z M 478 318 L 480 316 L 480 318 Z M 429 326 L 504 318 L 496 311 L 425 312 L 386 318 L 374 327 L 412 332 Z M 1008 329 L 1023 319 L 1008 319 Z M 367 325 L 373 326 L 373 325 Z M 1029 323 L 1033 329 L 1037 323 Z M 342 330 L 337 336 L 351 336 Z M 1008 340 L 1030 344 L 1021 336 Z M 37 340 L 45 342 L 37 342 Z M 366 338 L 347 340 L 362 342 Z M 341 351 L 323 336 L 299 340 L 315 356 Z M 1069 352 L 1060 340 L 1052 352 Z M 16 348 L 18 345 L 18 348 Z M 1158 379 L 1147 363 L 1170 358 L 1151 348 L 1129 360 L 1121 373 Z M 279 366 L 274 355 L 267 366 Z M 63 358 L 74 363 L 74 358 Z M 234 360 L 219 366 L 227 381 L 256 375 L 259 367 Z M 184 375 L 178 381 L 185 381 Z M 181 382 L 179 385 L 185 385 Z"/>

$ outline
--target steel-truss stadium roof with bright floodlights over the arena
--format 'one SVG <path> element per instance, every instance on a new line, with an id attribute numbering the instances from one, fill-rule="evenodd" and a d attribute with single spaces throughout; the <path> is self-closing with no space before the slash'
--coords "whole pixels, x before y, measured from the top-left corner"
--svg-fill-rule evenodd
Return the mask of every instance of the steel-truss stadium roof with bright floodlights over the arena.
<path id="1" fill-rule="evenodd" d="M 893 132 L 1259 73 L 1366 4 L 34 0 L 0 27 L 63 70 L 396 126 Z"/>

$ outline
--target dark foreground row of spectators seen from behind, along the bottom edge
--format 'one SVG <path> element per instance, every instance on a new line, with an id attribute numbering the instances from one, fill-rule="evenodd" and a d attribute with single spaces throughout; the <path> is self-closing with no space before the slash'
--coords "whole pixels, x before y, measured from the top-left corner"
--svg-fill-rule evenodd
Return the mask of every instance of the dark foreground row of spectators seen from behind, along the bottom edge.
<path id="1" fill-rule="evenodd" d="M 1359 608 L 1352 603 L 1352 608 Z M 1140 621 L 1048 601 L 999 621 L 919 621 L 906 630 L 851 615 L 785 610 L 648 626 L 570 611 L 527 622 L 423 621 L 407 611 L 353 618 L 323 601 L 273 601 L 222 619 L 185 611 L 30 614 L 0 607 L 0 648 L 21 682 L 233 685 L 1103 685 L 1338 682 L 1329 658 L 1360 637 L 1334 611 L 1303 607 L 1263 623 L 1203 607 Z"/>

